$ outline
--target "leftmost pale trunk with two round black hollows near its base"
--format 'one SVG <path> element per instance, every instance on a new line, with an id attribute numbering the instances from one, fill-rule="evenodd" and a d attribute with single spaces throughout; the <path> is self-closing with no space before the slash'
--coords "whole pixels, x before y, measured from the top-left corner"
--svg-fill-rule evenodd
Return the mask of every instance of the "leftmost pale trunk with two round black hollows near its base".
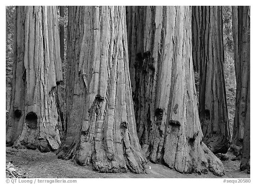
<path id="1" fill-rule="evenodd" d="M 60 115 L 56 86 L 62 80 L 56 7 L 16 7 L 13 85 L 6 142 L 56 150 Z"/>

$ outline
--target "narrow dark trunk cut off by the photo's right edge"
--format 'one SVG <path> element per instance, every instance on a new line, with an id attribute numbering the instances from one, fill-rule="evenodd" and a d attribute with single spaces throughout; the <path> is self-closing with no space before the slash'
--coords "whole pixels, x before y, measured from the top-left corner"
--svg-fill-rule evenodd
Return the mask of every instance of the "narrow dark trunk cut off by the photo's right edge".
<path id="1" fill-rule="evenodd" d="M 242 150 L 240 169 L 250 160 L 250 7 L 232 7 L 234 55 L 236 69 L 236 112 L 232 149 Z M 238 152 L 239 153 L 239 152 Z"/>

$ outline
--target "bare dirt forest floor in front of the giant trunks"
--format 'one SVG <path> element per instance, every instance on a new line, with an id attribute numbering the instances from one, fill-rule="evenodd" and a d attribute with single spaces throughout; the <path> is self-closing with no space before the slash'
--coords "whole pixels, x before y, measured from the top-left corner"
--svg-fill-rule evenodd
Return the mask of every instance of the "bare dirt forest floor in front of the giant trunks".
<path id="1" fill-rule="evenodd" d="M 222 177 L 208 174 L 181 174 L 164 165 L 148 162 L 146 174 L 98 173 L 89 166 L 80 166 L 70 160 L 58 159 L 55 153 L 39 150 L 6 147 L 6 161 L 19 165 L 20 173 L 26 178 L 250 178 L 246 171 L 239 170 L 240 161 L 223 161 L 226 170 Z M 151 169 L 149 169 L 149 166 Z M 234 169 L 234 170 L 233 170 Z"/>

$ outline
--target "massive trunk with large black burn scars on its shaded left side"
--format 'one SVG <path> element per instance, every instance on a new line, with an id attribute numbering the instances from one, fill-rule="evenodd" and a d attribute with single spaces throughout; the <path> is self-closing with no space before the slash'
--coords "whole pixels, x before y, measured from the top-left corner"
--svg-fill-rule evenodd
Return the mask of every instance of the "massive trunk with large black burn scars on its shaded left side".
<path id="1" fill-rule="evenodd" d="M 131 65 L 140 144 L 152 162 L 181 173 L 223 175 L 221 161 L 202 142 L 191 40 L 191 9 L 132 7 Z M 132 12 L 130 12 L 132 11 Z M 134 26 L 135 25 L 135 26 Z M 142 54 L 143 53 L 143 54 Z M 136 56 L 136 57 L 135 57 Z M 131 71 L 132 76 L 132 71 Z"/>

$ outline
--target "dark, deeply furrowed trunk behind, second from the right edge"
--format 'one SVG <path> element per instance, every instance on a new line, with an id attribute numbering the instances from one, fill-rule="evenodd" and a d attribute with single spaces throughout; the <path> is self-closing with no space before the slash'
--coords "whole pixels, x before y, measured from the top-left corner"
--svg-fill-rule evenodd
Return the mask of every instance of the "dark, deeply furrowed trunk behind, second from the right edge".
<path id="1" fill-rule="evenodd" d="M 203 142 L 213 153 L 230 146 L 224 82 L 224 44 L 221 6 L 192 7 L 192 55 L 200 73 L 199 117 Z"/>

